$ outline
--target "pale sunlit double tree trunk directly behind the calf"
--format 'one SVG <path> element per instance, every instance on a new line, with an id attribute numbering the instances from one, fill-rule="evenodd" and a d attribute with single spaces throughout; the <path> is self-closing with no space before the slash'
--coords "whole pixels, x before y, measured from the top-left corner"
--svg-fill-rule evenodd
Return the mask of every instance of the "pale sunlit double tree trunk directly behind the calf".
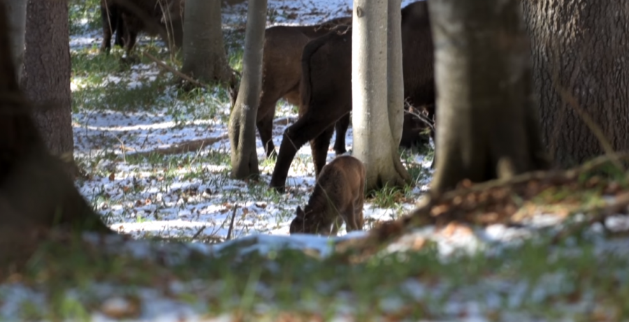
<path id="1" fill-rule="evenodd" d="M 393 1 L 392 10 L 400 15 L 400 3 Z M 400 162 L 398 145 L 401 138 L 402 119 L 396 106 L 403 94 L 395 89 L 389 96 L 389 76 L 399 82 L 401 71 L 400 20 L 395 39 L 388 41 L 388 12 L 393 8 L 386 0 L 354 0 L 352 28 L 352 128 L 353 152 L 367 168 L 367 191 L 383 186 L 403 186 L 410 182 L 410 175 Z M 399 39 L 398 39 L 399 38 Z M 393 48 L 396 45 L 396 48 Z M 389 50 L 386 50 L 390 47 Z M 395 54 L 388 60 L 389 52 Z M 398 57 L 398 55 L 400 57 Z M 389 66 L 396 71 L 388 71 Z M 398 85 L 400 85 L 398 84 Z M 401 91 L 403 87 L 399 86 Z M 400 98 L 396 97 L 400 96 Z M 398 101 L 400 100 L 400 101 Z M 389 105 L 389 103 L 391 103 Z"/>

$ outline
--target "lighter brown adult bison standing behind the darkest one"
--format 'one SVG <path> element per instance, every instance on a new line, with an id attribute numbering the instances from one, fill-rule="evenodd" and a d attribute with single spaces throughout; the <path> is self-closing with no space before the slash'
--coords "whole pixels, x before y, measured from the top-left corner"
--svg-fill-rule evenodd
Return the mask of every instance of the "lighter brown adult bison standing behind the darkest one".
<path id="1" fill-rule="evenodd" d="M 337 26 L 352 24 L 352 17 L 339 17 L 312 26 L 275 26 L 264 32 L 262 58 L 262 92 L 258 105 L 256 126 L 266 156 L 275 154 L 273 145 L 273 118 L 275 105 L 285 98 L 293 105 L 299 105 L 299 82 L 301 82 L 301 52 L 312 39 L 327 34 Z M 349 125 L 349 117 L 341 122 Z M 347 130 L 347 125 L 344 125 Z M 339 140 L 342 138 L 342 140 Z M 345 131 L 337 132 L 335 151 L 345 152 Z M 342 149 L 341 149 L 342 147 Z M 340 153 L 339 153 L 340 152 Z"/>

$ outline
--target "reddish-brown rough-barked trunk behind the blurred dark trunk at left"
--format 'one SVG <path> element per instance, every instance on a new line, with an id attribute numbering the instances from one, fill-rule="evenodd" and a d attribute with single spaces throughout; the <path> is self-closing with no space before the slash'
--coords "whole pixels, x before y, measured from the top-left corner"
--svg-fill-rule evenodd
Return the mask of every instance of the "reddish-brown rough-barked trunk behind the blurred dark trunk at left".
<path id="1" fill-rule="evenodd" d="M 71 160 L 68 1 L 29 0 L 27 10 L 22 89 L 39 106 L 33 116 L 50 152 Z"/>

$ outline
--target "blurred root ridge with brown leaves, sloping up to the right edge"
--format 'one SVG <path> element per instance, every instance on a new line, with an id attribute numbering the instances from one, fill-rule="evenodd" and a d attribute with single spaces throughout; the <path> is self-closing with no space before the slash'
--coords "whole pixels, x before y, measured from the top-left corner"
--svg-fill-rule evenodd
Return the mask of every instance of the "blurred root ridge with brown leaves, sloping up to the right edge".
<path id="1" fill-rule="evenodd" d="M 612 204 L 595 205 L 586 209 L 580 205 L 570 208 L 568 212 L 585 212 L 593 217 L 563 230 L 556 237 L 558 241 L 589 224 L 604 221 L 605 218 L 618 214 L 629 206 L 629 193 L 621 192 L 621 186 L 616 182 L 605 182 L 599 177 L 581 180 L 583 175 L 621 160 L 628 161 L 629 154 L 600 156 L 570 170 L 534 171 L 473 185 L 470 182 L 461 182 L 454 191 L 426 196 L 424 205 L 420 205 L 400 219 L 381 224 L 371 230 L 366 237 L 339 242 L 336 244 L 336 251 L 339 253 L 339 259 L 343 261 L 359 261 L 377 253 L 413 228 L 421 226 L 444 227 L 453 221 L 480 226 L 516 224 L 526 217 L 526 212 L 519 209 L 521 205 L 539 197 L 540 193 L 548 189 L 568 191 L 598 189 L 600 193 L 616 194 Z"/>

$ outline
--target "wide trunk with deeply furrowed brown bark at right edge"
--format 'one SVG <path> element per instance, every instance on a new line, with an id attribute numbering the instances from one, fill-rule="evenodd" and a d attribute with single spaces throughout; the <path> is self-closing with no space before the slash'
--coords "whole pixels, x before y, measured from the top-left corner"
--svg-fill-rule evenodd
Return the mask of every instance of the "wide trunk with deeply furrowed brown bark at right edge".
<path id="1" fill-rule="evenodd" d="M 629 149 L 629 1 L 524 0 L 543 138 L 561 166 Z M 570 103 L 572 101 L 573 103 Z"/>

